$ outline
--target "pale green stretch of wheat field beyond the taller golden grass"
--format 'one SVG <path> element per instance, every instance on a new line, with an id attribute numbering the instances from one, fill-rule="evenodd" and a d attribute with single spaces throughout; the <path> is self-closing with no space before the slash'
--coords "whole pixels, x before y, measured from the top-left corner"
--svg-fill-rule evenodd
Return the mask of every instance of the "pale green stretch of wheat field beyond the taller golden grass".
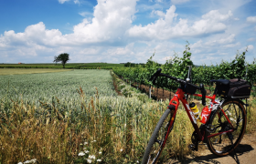
<path id="1" fill-rule="evenodd" d="M 33 70 L 35 69 L 30 71 L 33 72 Z M 22 72 L 23 69 L 20 70 L 20 73 Z M 5 75 L 0 76 L 0 84 L 0 97 L 13 99 L 22 97 L 24 101 L 36 102 L 37 106 L 38 100 L 51 102 L 52 97 L 58 97 L 59 100 L 69 103 L 74 102 L 80 98 L 77 92 L 79 87 L 84 90 L 87 97 L 95 95 L 95 87 L 98 88 L 101 96 L 116 96 L 108 70 L 70 70 L 59 73 Z"/>

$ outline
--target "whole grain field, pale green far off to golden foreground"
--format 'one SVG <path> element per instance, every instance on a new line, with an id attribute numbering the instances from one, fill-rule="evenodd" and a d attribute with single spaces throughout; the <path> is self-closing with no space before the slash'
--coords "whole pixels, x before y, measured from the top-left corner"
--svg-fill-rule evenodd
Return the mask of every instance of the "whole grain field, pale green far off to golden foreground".
<path id="1" fill-rule="evenodd" d="M 0 163 L 138 163 L 168 104 L 117 96 L 108 70 L 5 75 L 0 85 Z M 176 157 L 191 143 L 185 114 L 167 146 Z"/>

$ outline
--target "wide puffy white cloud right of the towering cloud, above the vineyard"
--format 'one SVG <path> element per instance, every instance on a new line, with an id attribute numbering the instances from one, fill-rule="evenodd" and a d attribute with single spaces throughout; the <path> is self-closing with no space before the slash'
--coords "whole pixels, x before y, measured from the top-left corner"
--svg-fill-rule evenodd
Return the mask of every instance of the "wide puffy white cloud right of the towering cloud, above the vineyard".
<path id="1" fill-rule="evenodd" d="M 153 13 L 160 16 L 155 23 L 148 24 L 147 26 L 133 26 L 129 29 L 128 34 L 144 40 L 165 40 L 179 36 L 201 36 L 224 32 L 227 26 L 223 22 L 232 16 L 231 11 L 226 15 L 222 15 L 218 10 L 211 10 L 206 15 L 202 15 L 202 18 L 194 22 L 192 26 L 189 26 L 187 19 L 180 18 L 178 23 L 174 23 L 177 15 L 175 11 L 175 5 L 166 10 L 165 14 L 161 11 L 154 11 Z"/>

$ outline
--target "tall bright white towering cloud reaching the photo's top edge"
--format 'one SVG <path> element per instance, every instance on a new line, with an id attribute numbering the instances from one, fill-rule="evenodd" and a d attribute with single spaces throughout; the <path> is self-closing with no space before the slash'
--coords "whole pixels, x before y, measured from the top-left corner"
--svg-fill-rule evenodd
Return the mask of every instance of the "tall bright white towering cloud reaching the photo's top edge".
<path id="1" fill-rule="evenodd" d="M 84 19 L 69 37 L 79 43 L 114 42 L 123 38 L 135 14 L 136 0 L 99 0 L 91 22 Z"/>

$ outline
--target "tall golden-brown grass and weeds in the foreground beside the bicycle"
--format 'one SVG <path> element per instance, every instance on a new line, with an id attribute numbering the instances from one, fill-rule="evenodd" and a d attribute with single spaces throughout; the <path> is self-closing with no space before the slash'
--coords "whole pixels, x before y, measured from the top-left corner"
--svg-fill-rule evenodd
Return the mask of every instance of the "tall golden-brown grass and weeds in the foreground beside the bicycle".
<path id="1" fill-rule="evenodd" d="M 54 103 L 41 102 L 40 108 L 25 105 L 21 99 L 8 105 L 10 112 L 7 115 L 4 110 L 6 104 L 2 100 L 0 161 L 140 161 L 151 137 L 150 132 L 154 130 L 167 102 L 144 103 L 136 97 L 99 97 L 97 94 L 88 101 L 81 88 L 78 92 L 80 108 L 72 111 L 65 109 L 65 102 L 58 98 Z M 179 116 L 176 122 L 184 121 L 182 115 Z M 172 148 L 179 149 L 177 154 L 184 154 L 190 138 L 189 130 L 186 130 L 186 124 L 177 123 L 174 130 L 179 132 L 180 129 L 184 129 L 185 136 L 179 140 L 174 134 L 176 146 Z M 81 157 L 82 152 L 87 152 L 87 156 Z"/>

